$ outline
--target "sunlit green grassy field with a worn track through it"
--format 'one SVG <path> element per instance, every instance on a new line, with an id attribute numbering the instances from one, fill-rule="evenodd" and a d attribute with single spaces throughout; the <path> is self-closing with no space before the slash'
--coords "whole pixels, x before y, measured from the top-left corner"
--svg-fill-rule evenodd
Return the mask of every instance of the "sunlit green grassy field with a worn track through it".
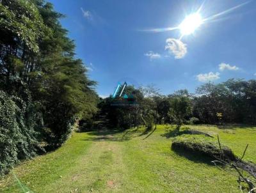
<path id="1" fill-rule="evenodd" d="M 185 127 L 219 134 L 236 155 L 249 144 L 244 159 L 256 162 L 256 127 Z M 240 192 L 236 176 L 209 159 L 172 151 L 172 131 L 74 133 L 60 149 L 15 167 L 0 192 Z"/>

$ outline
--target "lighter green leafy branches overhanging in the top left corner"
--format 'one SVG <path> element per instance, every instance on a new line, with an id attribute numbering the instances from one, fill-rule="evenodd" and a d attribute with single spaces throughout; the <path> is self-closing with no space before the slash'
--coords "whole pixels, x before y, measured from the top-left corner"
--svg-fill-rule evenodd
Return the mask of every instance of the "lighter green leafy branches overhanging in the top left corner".
<path id="1" fill-rule="evenodd" d="M 49 33 L 42 17 L 31 1 L 1 1 L 0 4 L 0 34 L 5 41 L 22 43 L 33 52 L 38 52 L 38 40 Z M 4 40 L 3 38 L 3 40 Z"/>

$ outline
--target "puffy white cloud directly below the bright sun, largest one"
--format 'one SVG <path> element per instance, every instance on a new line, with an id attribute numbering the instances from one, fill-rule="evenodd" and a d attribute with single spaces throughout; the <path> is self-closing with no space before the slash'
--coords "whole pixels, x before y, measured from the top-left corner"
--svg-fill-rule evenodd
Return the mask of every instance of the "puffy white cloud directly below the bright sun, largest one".
<path id="1" fill-rule="evenodd" d="M 183 58 L 187 53 L 187 45 L 178 39 L 168 38 L 166 40 L 166 50 L 169 50 L 176 59 Z"/>

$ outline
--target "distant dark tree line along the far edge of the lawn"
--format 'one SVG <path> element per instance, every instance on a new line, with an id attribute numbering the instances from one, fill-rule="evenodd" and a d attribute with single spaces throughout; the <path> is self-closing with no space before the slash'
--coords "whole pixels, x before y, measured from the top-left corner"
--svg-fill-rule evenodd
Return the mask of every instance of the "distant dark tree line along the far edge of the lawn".
<path id="1" fill-rule="evenodd" d="M 161 95 L 154 86 L 134 88 L 127 86 L 136 106 L 111 105 L 122 98 L 101 98 L 98 118 L 108 120 L 109 127 L 129 128 L 145 125 L 149 130 L 156 124 L 256 124 L 256 81 L 229 79 L 220 84 L 206 83 L 191 94 L 179 90 Z"/>

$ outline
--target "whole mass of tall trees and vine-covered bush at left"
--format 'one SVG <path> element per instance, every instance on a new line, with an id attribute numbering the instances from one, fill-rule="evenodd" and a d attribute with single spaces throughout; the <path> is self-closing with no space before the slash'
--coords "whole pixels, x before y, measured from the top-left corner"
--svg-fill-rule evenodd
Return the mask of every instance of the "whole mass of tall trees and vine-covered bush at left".
<path id="1" fill-rule="evenodd" d="M 0 1 L 0 174 L 61 146 L 76 120 L 97 111 L 63 17 L 44 0 Z"/>

